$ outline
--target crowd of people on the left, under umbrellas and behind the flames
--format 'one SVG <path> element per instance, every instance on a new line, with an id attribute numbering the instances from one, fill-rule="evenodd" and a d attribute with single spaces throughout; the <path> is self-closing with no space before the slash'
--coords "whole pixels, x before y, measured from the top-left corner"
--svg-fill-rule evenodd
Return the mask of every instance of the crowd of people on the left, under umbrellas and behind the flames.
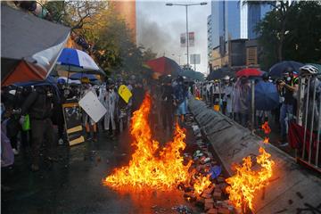
<path id="1" fill-rule="evenodd" d="M 132 93 L 128 103 L 119 96 L 122 85 Z M 57 146 L 68 145 L 62 104 L 78 102 L 88 92 L 93 92 L 107 110 L 96 123 L 85 111 L 80 111 L 85 139 L 95 143 L 100 133 L 105 132 L 114 140 L 128 128 L 132 113 L 139 108 L 146 92 L 150 93 L 153 103 L 151 127 L 153 130 L 164 128 L 170 133 L 175 121 L 184 122 L 191 86 L 183 77 L 169 75 L 161 80 L 152 79 L 149 84 L 136 78 L 128 81 L 108 78 L 99 85 L 81 78 L 81 84 L 68 84 L 59 78 L 56 84 L 3 87 L 2 167 L 12 165 L 13 154 L 21 152 L 29 157 L 32 171 L 39 170 L 40 155 L 45 161 L 58 161 Z"/>

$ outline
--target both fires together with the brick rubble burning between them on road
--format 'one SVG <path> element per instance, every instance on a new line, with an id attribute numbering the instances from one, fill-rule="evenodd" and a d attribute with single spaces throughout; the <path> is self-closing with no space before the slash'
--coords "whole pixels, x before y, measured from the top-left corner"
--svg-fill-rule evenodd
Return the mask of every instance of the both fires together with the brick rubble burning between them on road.
<path id="1" fill-rule="evenodd" d="M 161 147 L 152 137 L 148 122 L 150 111 L 151 97 L 147 94 L 132 119 L 132 145 L 136 147 L 132 159 L 128 166 L 115 169 L 106 177 L 104 185 L 142 190 L 177 187 L 185 192 L 187 202 L 201 206 L 207 213 L 233 213 L 234 207 L 243 211 L 253 209 L 255 192 L 268 185 L 268 179 L 272 176 L 274 161 L 270 160 L 268 152 L 259 148 L 258 171 L 252 169 L 251 157 L 246 157 L 242 165 L 235 165 L 235 176 L 226 179 L 221 175 L 222 168 L 213 160 L 209 144 L 203 142 L 201 128 L 193 121 L 193 116 L 186 117 L 186 125 L 193 128 L 197 148 L 183 155 L 185 129 L 177 125 L 173 140 Z M 264 128 L 268 130 L 268 124 Z M 173 210 L 189 212 L 185 210 L 185 205 Z"/>

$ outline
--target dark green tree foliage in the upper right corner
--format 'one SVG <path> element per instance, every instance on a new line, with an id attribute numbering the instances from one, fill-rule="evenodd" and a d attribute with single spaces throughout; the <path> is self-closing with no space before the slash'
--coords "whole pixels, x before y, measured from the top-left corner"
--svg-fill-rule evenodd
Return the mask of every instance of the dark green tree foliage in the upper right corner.
<path id="1" fill-rule="evenodd" d="M 321 4 L 316 1 L 279 2 L 259 22 L 260 63 L 268 69 L 276 62 L 320 62 Z"/>

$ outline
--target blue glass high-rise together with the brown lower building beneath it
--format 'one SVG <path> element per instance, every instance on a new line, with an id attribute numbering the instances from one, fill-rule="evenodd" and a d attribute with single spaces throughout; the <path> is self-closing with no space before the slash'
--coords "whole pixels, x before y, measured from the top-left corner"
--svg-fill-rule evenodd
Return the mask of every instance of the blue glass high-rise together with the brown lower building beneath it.
<path id="1" fill-rule="evenodd" d="M 250 65 L 250 62 L 251 64 L 259 63 L 258 59 L 253 59 L 253 53 L 258 53 L 257 47 L 253 45 L 247 47 L 244 42 L 241 42 L 242 48 L 233 47 L 240 47 L 240 41 L 255 40 L 258 37 L 255 27 L 270 10 L 271 7 L 267 4 L 243 4 L 243 0 L 211 2 L 208 53 L 211 56 L 209 57 L 209 64 L 212 65 L 214 70 L 219 66 L 234 66 L 235 60 L 232 62 L 232 58 L 235 59 L 236 53 L 246 56 L 242 61 L 237 61 L 237 66 L 240 66 L 239 62 L 244 62 L 244 66 Z M 251 48 L 251 50 L 247 50 L 247 48 Z M 247 53 L 251 55 L 251 60 L 248 60 L 250 55 L 248 56 Z M 234 57 L 229 56 L 231 54 Z"/>

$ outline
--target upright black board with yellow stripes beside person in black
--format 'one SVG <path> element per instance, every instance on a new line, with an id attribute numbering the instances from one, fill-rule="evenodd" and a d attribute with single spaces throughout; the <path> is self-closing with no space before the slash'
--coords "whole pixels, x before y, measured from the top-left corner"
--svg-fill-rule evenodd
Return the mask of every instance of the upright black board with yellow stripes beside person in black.
<path id="1" fill-rule="evenodd" d="M 83 143 L 85 138 L 82 136 L 81 114 L 77 100 L 62 104 L 62 111 L 69 144 Z"/>

